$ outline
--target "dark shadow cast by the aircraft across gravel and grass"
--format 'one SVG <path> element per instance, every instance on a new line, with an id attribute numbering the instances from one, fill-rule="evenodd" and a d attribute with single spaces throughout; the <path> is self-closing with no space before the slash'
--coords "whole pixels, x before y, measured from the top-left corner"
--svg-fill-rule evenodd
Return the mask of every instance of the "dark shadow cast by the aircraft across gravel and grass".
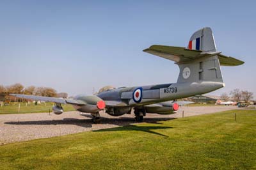
<path id="1" fill-rule="evenodd" d="M 81 114 L 86 118 L 92 118 L 90 114 Z M 145 123 L 154 123 L 154 124 L 162 124 L 159 121 L 167 121 L 173 120 L 174 118 L 144 118 Z M 95 130 L 93 132 L 107 132 L 107 131 L 120 131 L 120 130 L 137 130 L 142 132 L 148 132 L 150 134 L 157 134 L 166 136 L 163 134 L 159 134 L 152 130 L 163 129 L 163 128 L 172 128 L 172 127 L 161 127 L 161 126 L 136 126 L 131 125 L 132 123 L 136 123 L 134 118 L 131 117 L 118 117 L 118 118 L 104 118 L 101 117 L 100 124 L 110 124 L 110 125 L 118 125 L 122 127 L 116 128 L 105 128 L 101 130 Z M 92 120 L 91 119 L 76 119 L 76 118 L 64 118 L 63 120 L 35 120 L 35 121 L 8 121 L 4 122 L 4 124 L 9 125 L 77 125 L 79 127 L 84 128 L 92 128 Z"/>

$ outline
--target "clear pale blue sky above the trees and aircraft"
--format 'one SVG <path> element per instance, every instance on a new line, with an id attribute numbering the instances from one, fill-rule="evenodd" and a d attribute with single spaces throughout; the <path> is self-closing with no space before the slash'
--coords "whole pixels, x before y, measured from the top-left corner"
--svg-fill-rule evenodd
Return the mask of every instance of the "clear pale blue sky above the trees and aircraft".
<path id="1" fill-rule="evenodd" d="M 217 49 L 245 61 L 222 67 L 226 87 L 256 96 L 254 1 L 0 1 L 0 84 L 47 86 L 69 95 L 102 86 L 176 82 L 179 68 L 145 52 L 186 47 L 211 27 Z"/>

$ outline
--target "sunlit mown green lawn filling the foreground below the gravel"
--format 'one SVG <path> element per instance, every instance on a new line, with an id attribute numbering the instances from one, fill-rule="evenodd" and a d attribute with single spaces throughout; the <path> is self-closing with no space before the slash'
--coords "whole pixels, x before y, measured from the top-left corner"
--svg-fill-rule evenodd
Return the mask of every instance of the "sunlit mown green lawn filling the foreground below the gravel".
<path id="1" fill-rule="evenodd" d="M 6 144 L 0 169 L 256 169 L 255 122 L 226 111 Z"/>

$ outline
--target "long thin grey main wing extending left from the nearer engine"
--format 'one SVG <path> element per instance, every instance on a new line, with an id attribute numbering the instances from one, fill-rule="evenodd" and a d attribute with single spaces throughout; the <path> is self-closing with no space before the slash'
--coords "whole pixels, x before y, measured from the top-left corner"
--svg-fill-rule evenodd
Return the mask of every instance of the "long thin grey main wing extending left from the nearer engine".
<path id="1" fill-rule="evenodd" d="M 64 99 L 64 98 L 56 98 L 56 97 L 40 97 L 35 95 L 20 95 L 20 94 L 10 94 L 10 95 L 18 98 L 40 100 L 45 102 L 54 102 L 56 104 L 86 105 L 86 103 L 83 102 L 82 100 Z"/>

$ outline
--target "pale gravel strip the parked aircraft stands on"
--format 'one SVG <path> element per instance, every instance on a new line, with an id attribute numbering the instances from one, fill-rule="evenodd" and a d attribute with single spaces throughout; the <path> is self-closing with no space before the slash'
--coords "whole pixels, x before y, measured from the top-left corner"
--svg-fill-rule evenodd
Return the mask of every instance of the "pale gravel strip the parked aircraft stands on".
<path id="1" fill-rule="evenodd" d="M 175 114 L 159 115 L 147 114 L 145 122 L 170 120 L 184 116 L 209 114 L 212 112 L 237 109 L 234 106 L 205 106 L 205 107 L 181 107 Z M 80 112 L 64 112 L 61 115 L 49 113 L 33 114 L 1 114 L 0 115 L 0 145 L 15 143 L 17 141 L 29 141 L 31 139 L 54 137 L 66 134 L 75 134 L 102 128 L 112 128 L 134 123 L 134 114 L 124 114 L 113 117 L 101 112 L 100 124 L 92 124 L 90 114 Z"/>

